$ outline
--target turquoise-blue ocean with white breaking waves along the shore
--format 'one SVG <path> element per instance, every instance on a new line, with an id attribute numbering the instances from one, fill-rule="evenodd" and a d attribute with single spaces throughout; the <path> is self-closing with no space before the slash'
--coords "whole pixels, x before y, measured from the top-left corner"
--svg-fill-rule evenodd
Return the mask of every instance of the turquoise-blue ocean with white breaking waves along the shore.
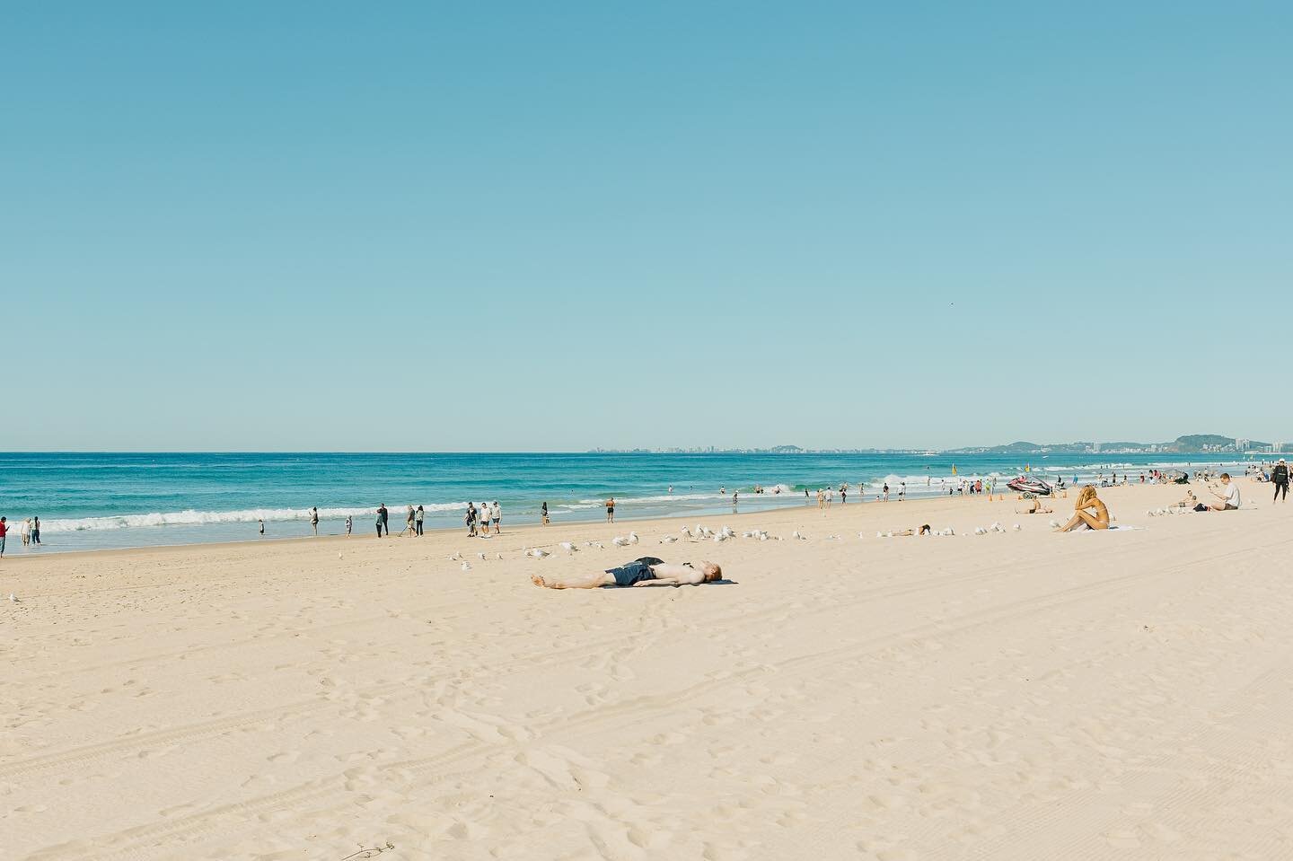
<path id="1" fill-rule="evenodd" d="M 883 484 L 908 498 L 946 494 L 976 477 L 998 485 L 1025 467 L 1087 481 L 1153 467 L 1197 468 L 1219 455 L 935 454 L 0 454 L 0 515 L 14 530 L 41 521 L 43 546 L 27 552 L 257 540 L 343 531 L 347 516 L 371 533 L 385 504 L 392 525 L 423 505 L 427 529 L 460 527 L 467 502 L 498 502 L 503 525 L 600 520 L 614 495 L 617 520 L 804 504 L 804 490 L 850 486 L 850 500 L 875 499 Z M 1234 458 L 1234 455 L 1231 455 Z M 1234 459 L 1226 465 L 1234 463 Z M 764 493 L 756 494 L 755 487 Z M 864 489 L 864 490 L 860 490 Z"/>

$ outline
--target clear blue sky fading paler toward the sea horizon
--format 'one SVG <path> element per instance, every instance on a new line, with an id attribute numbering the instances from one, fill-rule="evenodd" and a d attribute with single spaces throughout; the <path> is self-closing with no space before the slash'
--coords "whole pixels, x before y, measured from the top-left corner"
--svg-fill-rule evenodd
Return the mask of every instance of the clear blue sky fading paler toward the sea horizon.
<path id="1" fill-rule="evenodd" d="M 1290 39 L 1288 3 L 5 4 L 0 449 L 1289 438 Z"/>

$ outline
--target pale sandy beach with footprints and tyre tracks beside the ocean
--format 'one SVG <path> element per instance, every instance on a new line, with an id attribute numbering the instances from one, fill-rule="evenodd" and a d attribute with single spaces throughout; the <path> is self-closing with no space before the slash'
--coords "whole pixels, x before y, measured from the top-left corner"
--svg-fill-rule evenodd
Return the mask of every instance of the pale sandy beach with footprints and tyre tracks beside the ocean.
<path id="1" fill-rule="evenodd" d="M 0 857 L 1293 857 L 1293 509 L 1241 487 L 6 558 Z M 733 582 L 530 583 L 644 555 Z"/>

